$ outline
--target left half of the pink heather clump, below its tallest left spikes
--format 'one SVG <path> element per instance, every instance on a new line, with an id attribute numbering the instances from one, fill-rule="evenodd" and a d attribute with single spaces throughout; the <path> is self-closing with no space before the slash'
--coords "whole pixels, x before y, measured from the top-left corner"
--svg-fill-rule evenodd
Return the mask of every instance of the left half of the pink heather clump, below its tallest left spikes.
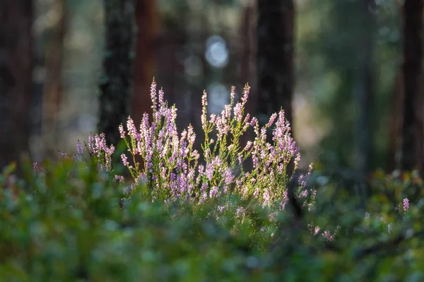
<path id="1" fill-rule="evenodd" d="M 131 117 L 126 122 L 126 131 L 123 125 L 119 126 L 134 166 L 129 164 L 125 154 L 121 156 L 122 163 L 129 168 L 135 182 L 141 176 L 146 178 L 155 199 L 187 199 L 196 184 L 195 169 L 200 157 L 193 149 L 196 134 L 191 125 L 178 134 L 175 124 L 177 108 L 169 108 L 163 95 L 163 91 L 156 92 L 153 82 L 153 121 L 149 122 L 148 114 L 144 114 L 139 130 Z M 143 168 L 135 161 L 136 156 L 143 160 Z"/>

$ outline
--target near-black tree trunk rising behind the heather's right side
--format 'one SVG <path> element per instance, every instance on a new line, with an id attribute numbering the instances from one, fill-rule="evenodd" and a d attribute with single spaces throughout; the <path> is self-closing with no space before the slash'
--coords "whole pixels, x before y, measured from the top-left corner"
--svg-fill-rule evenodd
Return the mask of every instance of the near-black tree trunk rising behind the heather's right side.
<path id="1" fill-rule="evenodd" d="M 257 13 L 259 114 L 271 116 L 283 107 L 292 123 L 295 6 L 293 0 L 260 0 Z"/>

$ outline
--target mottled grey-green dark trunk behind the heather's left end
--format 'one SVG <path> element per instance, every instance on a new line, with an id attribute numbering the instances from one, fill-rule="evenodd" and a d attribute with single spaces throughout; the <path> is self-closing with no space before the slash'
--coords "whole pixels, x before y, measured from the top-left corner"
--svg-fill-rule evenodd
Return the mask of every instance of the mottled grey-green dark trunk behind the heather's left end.
<path id="1" fill-rule="evenodd" d="M 105 0 L 106 46 L 99 82 L 98 131 L 119 142 L 118 127 L 129 116 L 135 41 L 134 0 Z"/>

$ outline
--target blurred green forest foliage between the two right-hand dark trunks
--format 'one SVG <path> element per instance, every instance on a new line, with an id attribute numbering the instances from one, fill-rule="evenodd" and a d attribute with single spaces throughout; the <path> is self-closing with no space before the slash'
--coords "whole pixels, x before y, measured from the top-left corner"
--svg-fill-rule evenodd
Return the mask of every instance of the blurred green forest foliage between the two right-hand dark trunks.
<path id="1" fill-rule="evenodd" d="M 314 116 L 312 128 L 322 137 L 319 146 L 310 149 L 328 168 L 356 168 L 358 135 L 364 130 L 358 128 L 364 106 L 358 102 L 363 91 L 361 58 L 370 51 L 369 166 L 371 170 L 387 167 L 389 124 L 401 61 L 401 6 L 392 0 L 369 1 L 367 10 L 361 0 L 298 2 L 297 90 L 307 94 Z M 368 25 L 364 23 L 366 11 L 372 22 Z M 364 49 L 366 37 L 370 50 Z"/>

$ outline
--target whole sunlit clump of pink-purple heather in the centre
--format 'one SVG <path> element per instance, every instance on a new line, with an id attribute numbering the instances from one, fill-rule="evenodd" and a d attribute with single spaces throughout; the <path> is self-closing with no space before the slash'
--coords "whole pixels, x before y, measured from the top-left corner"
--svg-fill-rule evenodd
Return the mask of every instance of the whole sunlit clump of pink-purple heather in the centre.
<path id="1" fill-rule="evenodd" d="M 201 204 L 205 200 L 226 197 L 236 192 L 242 197 L 254 199 L 264 206 L 283 209 L 287 199 L 287 184 L 298 168 L 299 147 L 290 135 L 290 124 L 284 111 L 273 114 L 264 127 L 259 128 L 257 118 L 245 114 L 249 97 L 246 85 L 239 102 L 235 103 L 235 87 L 230 93 L 230 104 L 216 115 L 207 113 L 207 94 L 202 97 L 201 123 L 204 130 L 204 163 L 194 149 L 196 133 L 192 125 L 178 133 L 175 123 L 177 108 L 168 107 L 162 90 L 151 85 L 153 116 L 143 115 L 139 128 L 131 117 L 126 130 L 119 126 L 121 138 L 129 154 L 122 154 L 122 163 L 129 169 L 134 182 L 148 183 L 154 200 L 184 200 Z M 266 131 L 273 126 L 273 144 L 266 141 Z M 254 140 L 240 145 L 240 137 L 252 128 Z M 96 140 L 94 154 L 104 154 L 105 164 L 110 150 Z M 98 149 L 100 148 L 100 149 Z M 100 153 L 99 153 L 100 152 Z M 102 156 L 100 156 L 102 157 Z M 141 157 L 142 164 L 136 159 Z M 252 169 L 244 171 L 244 163 L 250 158 Z M 289 164 L 293 161 L 292 170 Z M 312 166 L 311 166 L 312 168 Z M 309 173 L 310 174 L 310 173 Z M 302 176 L 299 187 L 304 188 L 307 176 Z M 304 192 L 305 193 L 305 192 Z"/>

